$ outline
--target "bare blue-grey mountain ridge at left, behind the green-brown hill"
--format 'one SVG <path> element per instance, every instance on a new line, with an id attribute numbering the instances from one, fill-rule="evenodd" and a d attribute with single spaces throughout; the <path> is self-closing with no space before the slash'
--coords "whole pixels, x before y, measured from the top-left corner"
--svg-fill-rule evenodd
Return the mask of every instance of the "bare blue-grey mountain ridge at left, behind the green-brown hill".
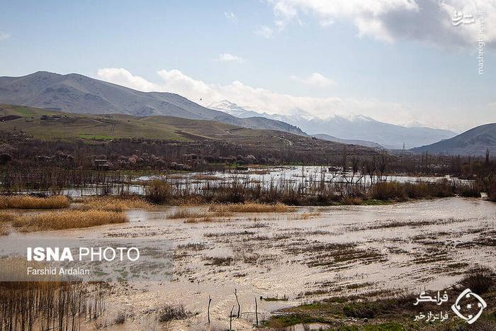
<path id="1" fill-rule="evenodd" d="M 243 128 L 305 135 L 299 128 L 280 120 L 261 116 L 237 118 L 200 106 L 178 94 L 136 91 L 81 74 L 35 72 L 23 77 L 0 77 L 0 102 L 68 113 L 162 115 L 215 120 Z"/>

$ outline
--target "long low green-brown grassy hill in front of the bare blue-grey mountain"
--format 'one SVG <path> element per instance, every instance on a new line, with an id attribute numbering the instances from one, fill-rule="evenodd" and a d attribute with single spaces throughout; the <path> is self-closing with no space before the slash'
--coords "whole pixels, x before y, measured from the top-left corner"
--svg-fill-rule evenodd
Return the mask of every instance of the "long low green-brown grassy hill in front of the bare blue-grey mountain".
<path id="1" fill-rule="evenodd" d="M 124 114 L 76 114 L 28 106 L 0 103 L 0 130 L 22 130 L 41 140 L 111 141 L 122 138 L 149 138 L 198 142 L 229 142 L 251 150 L 287 150 L 288 152 L 341 153 L 339 142 L 318 140 L 278 130 L 257 130 L 213 120 L 191 120 L 173 116 L 137 117 Z M 367 147 L 346 145 L 354 155 L 372 155 Z"/>

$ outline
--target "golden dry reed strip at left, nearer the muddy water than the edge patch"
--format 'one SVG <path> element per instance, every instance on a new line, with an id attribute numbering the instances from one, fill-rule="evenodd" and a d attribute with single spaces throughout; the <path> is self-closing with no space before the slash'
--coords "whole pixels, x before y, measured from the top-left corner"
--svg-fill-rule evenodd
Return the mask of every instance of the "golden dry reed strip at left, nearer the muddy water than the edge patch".
<path id="1" fill-rule="evenodd" d="M 89 228 L 91 226 L 125 223 L 128 217 L 115 211 L 60 211 L 42 213 L 15 220 L 12 225 L 23 232 Z"/>

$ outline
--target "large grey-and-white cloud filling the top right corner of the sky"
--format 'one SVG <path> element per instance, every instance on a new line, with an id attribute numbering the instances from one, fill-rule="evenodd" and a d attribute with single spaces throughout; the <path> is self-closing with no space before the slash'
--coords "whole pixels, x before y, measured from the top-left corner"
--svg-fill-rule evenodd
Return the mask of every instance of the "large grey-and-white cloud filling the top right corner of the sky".
<path id="1" fill-rule="evenodd" d="M 485 41 L 496 44 L 495 0 L 266 0 L 274 9 L 274 25 L 281 30 L 300 16 L 316 18 L 322 26 L 351 21 L 359 36 L 392 43 L 423 40 L 430 43 L 473 46 L 479 24 L 453 26 L 455 11 L 477 18 L 484 12 Z"/>

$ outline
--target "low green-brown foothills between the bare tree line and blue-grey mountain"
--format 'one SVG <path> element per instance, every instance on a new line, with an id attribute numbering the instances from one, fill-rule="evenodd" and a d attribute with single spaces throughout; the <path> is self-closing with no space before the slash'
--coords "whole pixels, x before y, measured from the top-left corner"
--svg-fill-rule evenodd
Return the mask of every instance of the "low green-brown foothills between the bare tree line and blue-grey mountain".
<path id="1" fill-rule="evenodd" d="M 43 142 L 89 142 L 90 145 L 119 143 L 120 140 L 145 139 L 143 145 L 163 143 L 186 144 L 198 151 L 213 152 L 219 157 L 256 155 L 257 159 L 323 160 L 340 158 L 346 147 L 349 155 L 376 155 L 377 151 L 363 146 L 345 146 L 339 142 L 294 135 L 281 130 L 257 130 L 213 120 L 191 120 L 175 116 L 132 116 L 127 114 L 79 114 L 52 111 L 29 106 L 0 103 L 0 154 L 15 148 L 26 133 L 29 140 Z M 155 140 L 152 144 L 146 140 Z M 190 144 L 193 142 L 193 144 Z M 22 148 L 22 147 L 21 147 Z M 159 147 L 157 147 L 159 148 Z M 288 150 L 291 152 L 288 153 Z M 215 152 L 214 152 L 215 151 Z M 35 151 L 35 152 L 40 152 Z M 134 152 L 131 150 L 131 152 Z M 202 153 L 203 153 L 202 152 Z"/>

